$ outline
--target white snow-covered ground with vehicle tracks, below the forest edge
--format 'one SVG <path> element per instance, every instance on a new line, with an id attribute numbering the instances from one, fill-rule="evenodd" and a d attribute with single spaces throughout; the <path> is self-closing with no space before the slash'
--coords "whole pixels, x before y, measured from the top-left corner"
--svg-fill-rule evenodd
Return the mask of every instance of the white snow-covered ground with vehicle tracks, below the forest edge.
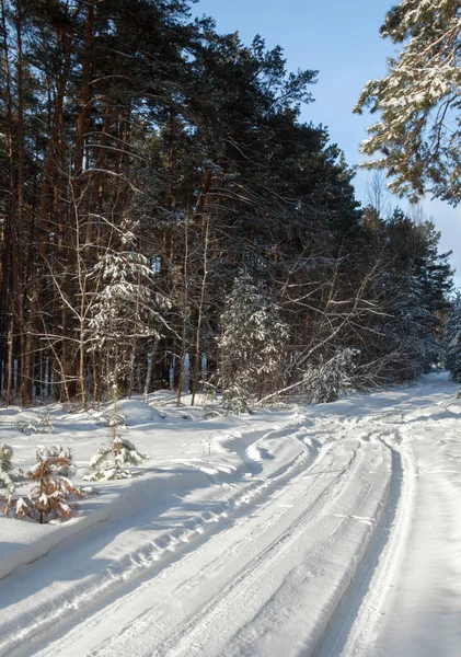
<path id="1" fill-rule="evenodd" d="M 459 657 L 456 391 L 430 374 L 241 418 L 124 402 L 140 476 L 62 525 L 0 519 L 0 655 Z M 48 411 L 38 438 L 0 411 L 0 442 L 23 468 L 71 447 L 79 483 L 107 429 Z"/>

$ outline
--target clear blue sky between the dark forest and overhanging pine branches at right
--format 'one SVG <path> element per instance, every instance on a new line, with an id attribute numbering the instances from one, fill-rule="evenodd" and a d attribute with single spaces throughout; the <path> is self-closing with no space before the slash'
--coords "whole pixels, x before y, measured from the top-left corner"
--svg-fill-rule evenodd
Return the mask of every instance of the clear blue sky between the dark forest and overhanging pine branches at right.
<path id="1" fill-rule="evenodd" d="M 211 15 L 219 32 L 238 31 L 245 43 L 261 34 L 268 47 L 284 48 L 289 70 L 319 70 L 312 87 L 315 102 L 304 105 L 302 119 L 329 128 L 332 141 L 346 154 L 349 164 L 362 155 L 358 145 L 374 118 L 357 116 L 351 108 L 367 80 L 381 77 L 394 46 L 381 38 L 379 27 L 385 12 L 397 0 L 199 0 L 197 15 Z M 366 200 L 368 174 L 355 181 L 357 197 Z M 405 200 L 395 205 L 406 207 Z M 440 247 L 453 250 L 452 265 L 461 286 L 461 208 L 426 201 L 427 216 L 442 232 Z"/>

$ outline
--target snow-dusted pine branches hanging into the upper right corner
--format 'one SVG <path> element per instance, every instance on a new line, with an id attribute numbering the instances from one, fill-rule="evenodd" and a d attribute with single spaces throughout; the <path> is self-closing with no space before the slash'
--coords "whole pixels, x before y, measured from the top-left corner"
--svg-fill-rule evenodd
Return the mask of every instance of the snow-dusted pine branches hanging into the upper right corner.
<path id="1" fill-rule="evenodd" d="M 380 113 L 361 150 L 380 153 L 366 165 L 385 169 L 395 193 L 461 199 L 460 34 L 451 0 L 401 0 L 381 27 L 401 49 L 384 78 L 367 82 L 355 112 Z"/>

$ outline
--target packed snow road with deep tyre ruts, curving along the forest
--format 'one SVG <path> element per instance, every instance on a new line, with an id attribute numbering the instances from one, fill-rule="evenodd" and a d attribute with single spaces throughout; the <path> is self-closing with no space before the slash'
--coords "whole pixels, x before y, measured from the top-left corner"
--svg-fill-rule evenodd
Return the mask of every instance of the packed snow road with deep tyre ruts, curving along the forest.
<path id="1" fill-rule="evenodd" d="M 136 576 L 117 579 L 110 569 L 116 586 L 99 591 L 78 544 L 24 568 L 38 577 L 50 558 L 66 558 L 74 579 L 81 570 L 80 598 L 74 588 L 66 602 L 58 580 L 19 599 L 3 616 L 0 655 L 459 657 L 454 392 L 445 376 L 431 374 L 413 388 L 237 435 L 219 458 L 239 454 L 246 474 L 223 481 L 210 472 L 208 488 L 195 497 L 177 491 L 164 517 L 155 508 L 127 515 L 123 543 L 114 535 L 112 550 L 128 542 L 132 560 L 143 557 Z M 187 527 L 199 515 L 212 521 L 187 534 Z M 154 558 L 146 528 L 162 520 L 177 540 Z M 88 541 L 101 543 L 100 534 Z M 135 552 L 136 540 L 143 552 Z M 91 558 L 103 563 L 104 550 Z M 25 586 L 18 572 L 4 584 Z M 68 613 L 66 604 L 73 606 Z M 57 622 L 46 623 L 46 614 Z"/>

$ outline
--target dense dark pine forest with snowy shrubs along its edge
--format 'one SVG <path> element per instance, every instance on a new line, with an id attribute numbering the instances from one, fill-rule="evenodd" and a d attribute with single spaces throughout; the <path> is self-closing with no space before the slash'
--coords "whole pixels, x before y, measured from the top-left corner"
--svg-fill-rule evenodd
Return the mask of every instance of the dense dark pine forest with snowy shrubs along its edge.
<path id="1" fill-rule="evenodd" d="M 0 390 L 316 403 L 442 359 L 434 223 L 361 207 L 318 71 L 182 0 L 2 0 Z M 365 102 L 365 101 L 364 101 Z M 372 196 L 372 195 L 371 195 Z"/>

